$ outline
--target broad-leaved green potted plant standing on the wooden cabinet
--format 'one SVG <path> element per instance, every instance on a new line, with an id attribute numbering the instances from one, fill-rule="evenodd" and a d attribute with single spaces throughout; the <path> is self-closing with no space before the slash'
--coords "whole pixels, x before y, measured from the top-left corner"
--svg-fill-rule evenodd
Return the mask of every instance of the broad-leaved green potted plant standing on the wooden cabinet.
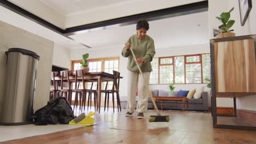
<path id="1" fill-rule="evenodd" d="M 235 37 L 236 34 L 231 32 L 234 29 L 229 30 L 235 23 L 235 20 L 229 20 L 232 10 L 234 7 L 228 13 L 222 13 L 220 17 L 216 16 L 216 19 L 222 22 L 222 25 L 219 26 L 220 34 L 216 35 L 216 38 Z"/>

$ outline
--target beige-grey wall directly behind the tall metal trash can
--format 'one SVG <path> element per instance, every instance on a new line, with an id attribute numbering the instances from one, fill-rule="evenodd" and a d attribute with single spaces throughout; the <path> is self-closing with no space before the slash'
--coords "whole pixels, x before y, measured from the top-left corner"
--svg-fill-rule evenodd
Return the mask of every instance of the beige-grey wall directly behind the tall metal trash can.
<path id="1" fill-rule="evenodd" d="M 31 50 L 40 56 L 38 62 L 36 95 L 34 98 L 34 110 L 47 104 L 50 89 L 50 72 L 53 62 L 52 41 L 24 31 L 20 28 L 11 26 L 0 21 L 0 98 L 3 98 L 5 75 L 7 65 L 5 64 L 4 52 L 11 47 L 20 47 L 22 49 Z M 0 105 L 2 99 L 0 99 Z M 21 102 L 22 103 L 22 102 Z"/>

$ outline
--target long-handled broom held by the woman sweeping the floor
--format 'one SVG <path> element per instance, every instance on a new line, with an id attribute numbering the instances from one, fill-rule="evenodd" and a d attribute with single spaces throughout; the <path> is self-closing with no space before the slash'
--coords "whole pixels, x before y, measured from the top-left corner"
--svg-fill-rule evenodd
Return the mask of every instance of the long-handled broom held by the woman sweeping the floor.
<path id="1" fill-rule="evenodd" d="M 135 55 L 134 55 L 134 53 L 133 53 L 133 51 L 132 51 L 132 49 L 130 48 L 130 50 L 131 50 L 131 52 L 132 52 L 132 56 L 133 56 L 133 58 L 134 58 L 134 61 L 136 62 L 136 57 L 135 57 Z M 137 63 L 136 63 L 137 64 Z M 145 77 L 144 77 L 144 75 L 142 74 L 142 71 L 141 71 L 141 68 L 139 67 L 139 65 L 137 64 L 137 67 L 138 67 L 138 69 L 139 69 L 139 73 L 141 73 L 141 75 L 142 75 L 142 77 L 143 77 L 143 79 L 144 79 L 144 84 L 147 86 L 147 88 L 149 89 L 149 87 L 148 87 L 148 84 L 147 84 L 147 82 L 146 82 L 146 80 L 145 80 Z M 158 107 L 156 106 L 156 104 L 155 104 L 155 100 L 154 100 L 154 98 L 153 98 L 153 95 L 152 95 L 152 92 L 150 91 L 150 89 L 149 89 L 149 96 L 150 96 L 150 98 L 151 98 L 151 100 L 152 100 L 152 103 L 153 103 L 153 105 L 154 105 L 154 107 L 155 107 L 155 111 L 156 111 L 156 113 L 158 114 L 157 116 L 149 116 L 149 122 L 169 122 L 170 121 L 170 117 L 169 116 L 161 116 L 161 114 L 160 114 L 160 112 L 159 112 L 159 110 L 158 110 Z"/>

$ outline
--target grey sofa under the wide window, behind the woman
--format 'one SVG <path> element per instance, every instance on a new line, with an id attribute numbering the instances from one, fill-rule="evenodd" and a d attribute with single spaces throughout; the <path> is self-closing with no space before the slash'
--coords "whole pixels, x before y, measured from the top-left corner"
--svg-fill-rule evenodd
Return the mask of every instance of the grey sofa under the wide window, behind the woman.
<path id="1" fill-rule="evenodd" d="M 153 96 L 158 97 L 168 97 L 168 91 L 165 90 L 152 90 Z M 178 91 L 174 91 L 174 97 L 177 97 Z M 207 92 L 202 92 L 202 97 L 200 99 L 191 98 L 189 99 L 189 110 L 196 110 L 196 111 L 208 111 L 208 95 Z M 127 105 L 127 97 L 120 97 L 120 104 L 122 109 L 126 109 Z M 136 105 L 137 105 L 137 97 L 136 97 Z M 156 105 L 158 109 L 161 109 L 160 101 L 156 101 Z M 185 110 L 187 110 L 187 105 L 185 106 Z M 148 99 L 148 109 L 154 109 L 154 105 L 152 100 Z M 183 110 L 183 102 L 182 101 L 170 101 L 164 100 L 162 102 L 162 109 L 164 110 Z"/>

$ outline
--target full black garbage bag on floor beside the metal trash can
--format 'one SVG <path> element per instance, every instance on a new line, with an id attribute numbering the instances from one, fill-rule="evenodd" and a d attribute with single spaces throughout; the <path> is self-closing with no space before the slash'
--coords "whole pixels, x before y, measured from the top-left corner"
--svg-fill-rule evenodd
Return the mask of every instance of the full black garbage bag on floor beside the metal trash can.
<path id="1" fill-rule="evenodd" d="M 34 112 L 32 118 L 36 125 L 67 124 L 74 118 L 74 112 L 66 98 L 58 97 Z"/>

